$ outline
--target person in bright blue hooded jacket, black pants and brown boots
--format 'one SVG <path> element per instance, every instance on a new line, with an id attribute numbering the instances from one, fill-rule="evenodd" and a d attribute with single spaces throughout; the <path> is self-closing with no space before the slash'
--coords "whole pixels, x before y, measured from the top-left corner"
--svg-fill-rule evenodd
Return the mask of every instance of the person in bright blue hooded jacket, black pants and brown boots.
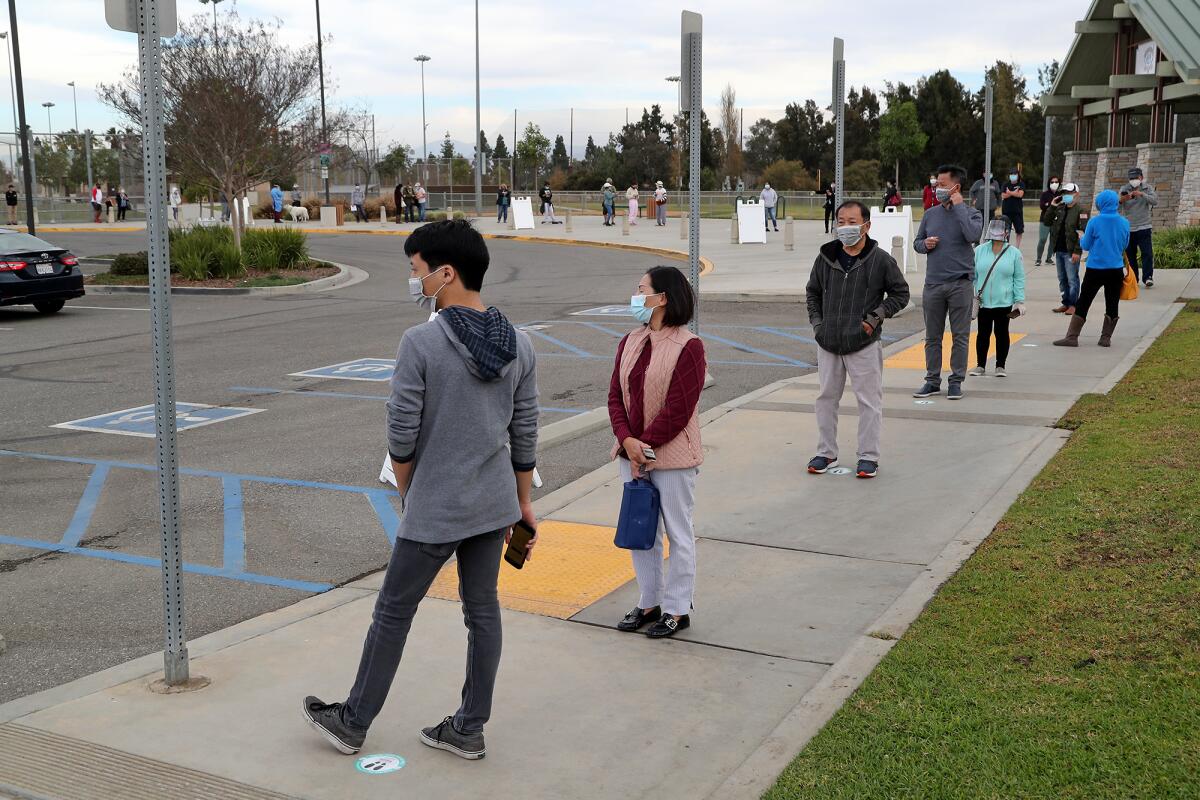
<path id="1" fill-rule="evenodd" d="M 1112 190 L 1104 190 L 1096 197 L 1096 207 L 1100 212 L 1087 221 L 1087 229 L 1079 240 L 1080 249 L 1087 252 L 1087 271 L 1067 336 L 1055 342 L 1058 347 L 1079 347 L 1079 333 L 1087 321 L 1087 311 L 1100 289 L 1104 289 L 1104 326 L 1098 344 L 1109 347 L 1112 343 L 1121 284 L 1124 283 L 1124 251 L 1129 246 L 1129 221 L 1117 213 L 1118 204 L 1117 193 Z"/>

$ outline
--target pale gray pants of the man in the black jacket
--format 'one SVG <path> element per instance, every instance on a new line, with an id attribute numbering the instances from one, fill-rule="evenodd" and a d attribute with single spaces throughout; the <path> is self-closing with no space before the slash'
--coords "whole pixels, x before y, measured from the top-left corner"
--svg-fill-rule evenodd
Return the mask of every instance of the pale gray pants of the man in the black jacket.
<path id="1" fill-rule="evenodd" d="M 838 458 L 838 407 L 846 377 L 858 399 L 858 458 L 880 461 L 883 429 L 883 344 L 872 342 L 857 353 L 838 355 L 817 347 L 821 391 L 814 403 L 817 416 L 817 455 Z"/>

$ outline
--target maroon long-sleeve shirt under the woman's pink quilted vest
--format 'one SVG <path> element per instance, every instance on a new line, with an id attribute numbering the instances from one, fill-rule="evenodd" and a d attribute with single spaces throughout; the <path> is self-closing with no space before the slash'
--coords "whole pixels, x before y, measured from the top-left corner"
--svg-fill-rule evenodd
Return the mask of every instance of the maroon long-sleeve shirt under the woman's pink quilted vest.
<path id="1" fill-rule="evenodd" d="M 700 393 L 704 389 L 704 345 L 698 338 L 684 345 L 674 374 L 671 375 L 671 386 L 667 389 L 662 410 L 646 425 L 644 385 L 646 371 L 650 366 L 652 344 L 649 341 L 646 342 L 637 363 L 629 374 L 630 408 L 626 409 L 625 396 L 620 390 L 620 359 L 625 353 L 626 341 L 622 339 L 617 348 L 617 367 L 608 384 L 608 419 L 612 421 L 612 431 L 617 435 L 617 441 L 634 437 L 650 447 L 661 447 L 683 433 L 700 403 Z M 620 456 L 626 457 L 624 452 Z"/>

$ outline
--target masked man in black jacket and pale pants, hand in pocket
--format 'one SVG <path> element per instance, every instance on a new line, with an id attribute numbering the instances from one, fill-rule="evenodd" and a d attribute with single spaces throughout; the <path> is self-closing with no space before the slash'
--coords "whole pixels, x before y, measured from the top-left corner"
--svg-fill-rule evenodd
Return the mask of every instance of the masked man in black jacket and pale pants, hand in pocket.
<path id="1" fill-rule="evenodd" d="M 810 475 L 838 464 L 838 407 L 850 377 L 858 401 L 858 477 L 880 470 L 883 429 L 883 320 L 908 305 L 908 283 L 868 233 L 871 211 L 858 200 L 838 209 L 836 239 L 817 252 L 805 296 L 817 339 L 821 390 L 814 403 L 817 455 Z"/>

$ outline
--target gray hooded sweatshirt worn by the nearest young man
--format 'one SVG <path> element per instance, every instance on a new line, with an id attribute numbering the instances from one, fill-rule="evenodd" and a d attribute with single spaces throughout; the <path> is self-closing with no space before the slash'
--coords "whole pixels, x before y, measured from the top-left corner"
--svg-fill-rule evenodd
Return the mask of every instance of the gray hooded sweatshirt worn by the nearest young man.
<path id="1" fill-rule="evenodd" d="M 475 314 L 473 342 L 460 338 L 445 312 L 400 341 L 388 449 L 397 462 L 414 462 L 400 539 L 454 542 L 521 518 L 514 470 L 536 461 L 536 360 L 529 336 L 503 314 Z M 500 333 L 511 350 L 487 344 L 497 332 L 488 329 L 499 325 L 509 329 Z"/>

